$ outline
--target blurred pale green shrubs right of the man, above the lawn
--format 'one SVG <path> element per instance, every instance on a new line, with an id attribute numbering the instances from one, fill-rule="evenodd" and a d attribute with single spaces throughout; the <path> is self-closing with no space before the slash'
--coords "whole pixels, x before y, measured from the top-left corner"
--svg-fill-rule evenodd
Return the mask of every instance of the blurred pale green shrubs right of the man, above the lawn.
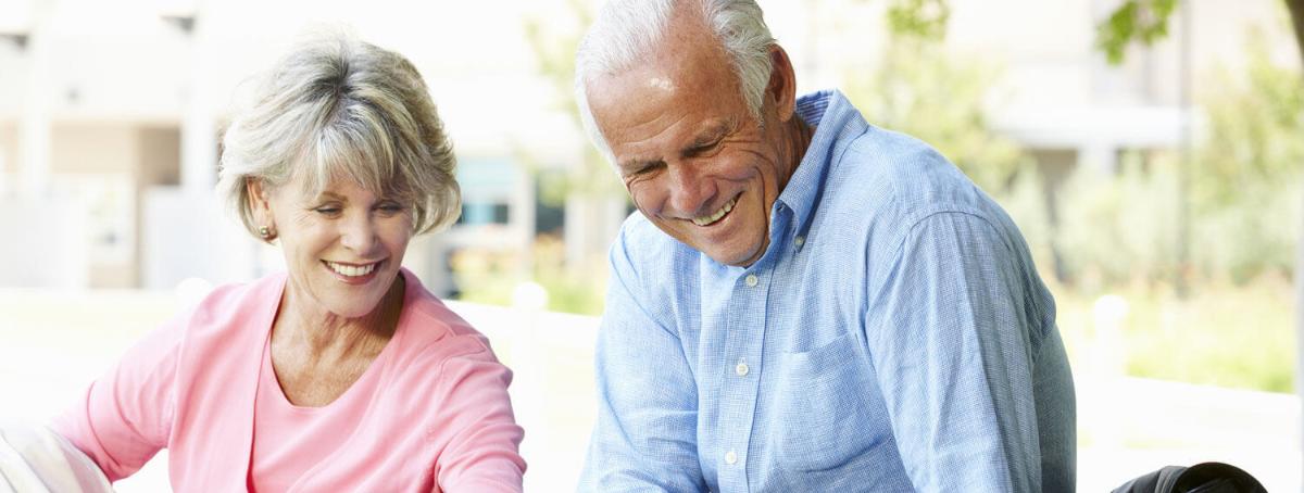
<path id="1" fill-rule="evenodd" d="M 1197 284 L 1241 286 L 1294 270 L 1304 194 L 1304 95 L 1299 72 L 1252 50 L 1244 80 L 1217 78 L 1202 97 L 1208 125 L 1187 172 L 1191 210 L 1187 271 Z M 1180 155 L 1131 151 L 1115 175 L 1077 170 L 1055 197 L 1052 226 L 1035 200 L 998 196 L 1034 252 L 1058 248 L 1074 288 L 1157 287 L 1178 265 Z M 1022 187 L 1034 187 L 1031 184 Z M 1046 256 L 1039 256 L 1048 265 Z"/>

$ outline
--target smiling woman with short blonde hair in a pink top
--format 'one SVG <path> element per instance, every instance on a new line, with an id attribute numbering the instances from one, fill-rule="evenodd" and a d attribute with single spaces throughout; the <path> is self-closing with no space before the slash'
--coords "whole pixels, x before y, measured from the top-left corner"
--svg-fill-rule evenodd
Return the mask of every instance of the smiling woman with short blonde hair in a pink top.
<path id="1" fill-rule="evenodd" d="M 262 82 L 219 190 L 287 273 L 215 290 L 53 429 L 111 481 L 168 449 L 185 492 L 519 490 L 511 372 L 400 267 L 460 201 L 421 76 L 329 37 Z"/>

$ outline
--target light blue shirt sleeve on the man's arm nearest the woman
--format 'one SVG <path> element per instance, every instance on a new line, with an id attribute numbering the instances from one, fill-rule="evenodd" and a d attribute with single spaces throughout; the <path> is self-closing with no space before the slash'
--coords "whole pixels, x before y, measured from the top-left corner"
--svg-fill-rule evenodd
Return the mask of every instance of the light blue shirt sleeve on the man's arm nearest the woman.
<path id="1" fill-rule="evenodd" d="M 703 492 L 698 391 L 677 334 L 640 300 L 625 250 L 612 248 L 612 279 L 596 350 L 597 423 L 580 492 Z"/>

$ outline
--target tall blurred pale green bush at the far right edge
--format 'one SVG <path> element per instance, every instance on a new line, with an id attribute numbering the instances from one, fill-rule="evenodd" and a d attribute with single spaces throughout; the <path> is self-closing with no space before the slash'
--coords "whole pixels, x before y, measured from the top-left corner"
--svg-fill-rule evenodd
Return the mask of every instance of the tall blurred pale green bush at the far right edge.
<path id="1" fill-rule="evenodd" d="M 1304 180 L 1300 72 L 1249 47 L 1244 77 L 1222 73 L 1201 97 L 1208 136 L 1192 166 L 1193 261 L 1211 279 L 1290 273 Z"/>

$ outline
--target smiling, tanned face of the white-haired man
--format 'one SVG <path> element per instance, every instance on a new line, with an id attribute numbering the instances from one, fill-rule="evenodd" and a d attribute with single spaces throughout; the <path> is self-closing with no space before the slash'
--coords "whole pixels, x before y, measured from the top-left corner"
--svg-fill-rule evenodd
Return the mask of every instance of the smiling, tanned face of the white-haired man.
<path id="1" fill-rule="evenodd" d="M 795 162 L 776 145 L 769 95 L 762 124 L 715 38 L 675 31 L 635 67 L 591 80 L 589 107 L 639 211 L 716 262 L 748 266 Z"/>

